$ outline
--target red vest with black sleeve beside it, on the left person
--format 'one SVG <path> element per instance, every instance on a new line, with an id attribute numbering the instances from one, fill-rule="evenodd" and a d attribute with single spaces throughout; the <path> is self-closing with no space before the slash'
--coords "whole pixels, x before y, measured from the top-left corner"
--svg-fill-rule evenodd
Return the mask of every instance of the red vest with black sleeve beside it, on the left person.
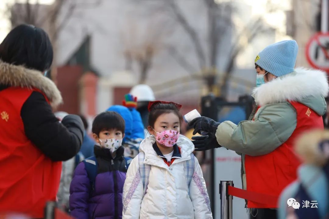
<path id="1" fill-rule="evenodd" d="M 46 201 L 56 199 L 62 162 L 52 162 L 25 135 L 20 113 L 33 91 L 0 91 L 0 212 L 42 218 Z"/>

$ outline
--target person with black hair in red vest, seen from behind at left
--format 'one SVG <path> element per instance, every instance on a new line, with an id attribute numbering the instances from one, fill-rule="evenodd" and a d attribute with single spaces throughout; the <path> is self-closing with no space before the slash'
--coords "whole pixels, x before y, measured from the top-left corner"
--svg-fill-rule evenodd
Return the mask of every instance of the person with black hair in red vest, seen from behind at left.
<path id="1" fill-rule="evenodd" d="M 32 25 L 15 27 L 0 44 L 0 212 L 42 218 L 55 201 L 62 162 L 80 149 L 83 123 L 53 109 L 62 103 L 45 77 L 53 60 L 47 33 Z"/>

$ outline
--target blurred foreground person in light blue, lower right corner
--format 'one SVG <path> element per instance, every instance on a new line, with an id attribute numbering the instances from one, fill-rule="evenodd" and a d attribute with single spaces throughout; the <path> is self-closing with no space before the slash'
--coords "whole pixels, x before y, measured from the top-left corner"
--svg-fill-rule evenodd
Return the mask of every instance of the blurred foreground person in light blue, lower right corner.
<path id="1" fill-rule="evenodd" d="M 278 218 L 329 218 L 329 131 L 305 133 L 296 141 L 294 151 L 303 164 L 298 168 L 298 179 L 281 193 Z M 294 201 L 299 209 L 292 208 Z"/>

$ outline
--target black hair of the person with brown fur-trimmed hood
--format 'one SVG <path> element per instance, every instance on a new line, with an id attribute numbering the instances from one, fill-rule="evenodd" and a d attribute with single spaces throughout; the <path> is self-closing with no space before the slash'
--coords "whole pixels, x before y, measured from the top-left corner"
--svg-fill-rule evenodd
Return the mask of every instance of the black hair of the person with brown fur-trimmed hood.
<path id="1" fill-rule="evenodd" d="M 0 44 L 0 59 L 43 72 L 53 62 L 53 47 L 44 30 L 21 24 L 9 32 Z"/>

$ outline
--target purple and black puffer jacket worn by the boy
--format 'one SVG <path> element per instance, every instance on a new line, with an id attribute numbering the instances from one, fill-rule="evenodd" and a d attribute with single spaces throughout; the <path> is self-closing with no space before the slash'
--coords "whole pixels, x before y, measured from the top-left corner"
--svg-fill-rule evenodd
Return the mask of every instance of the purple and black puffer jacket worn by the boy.
<path id="1" fill-rule="evenodd" d="M 122 148 L 122 147 L 120 147 Z M 94 190 L 81 162 L 75 169 L 70 186 L 71 216 L 78 219 L 116 219 L 122 218 L 122 190 L 126 179 L 126 167 L 123 148 L 117 151 L 113 159 L 108 149 L 95 146 L 97 176 Z"/>

